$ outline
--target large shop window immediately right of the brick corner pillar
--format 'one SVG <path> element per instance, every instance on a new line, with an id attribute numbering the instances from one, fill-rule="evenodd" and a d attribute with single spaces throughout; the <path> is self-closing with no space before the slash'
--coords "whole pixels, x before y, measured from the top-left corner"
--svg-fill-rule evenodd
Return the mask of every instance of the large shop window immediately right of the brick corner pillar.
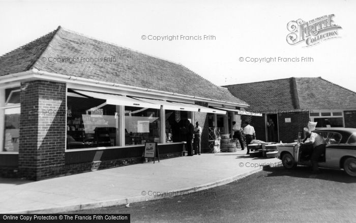
<path id="1" fill-rule="evenodd" d="M 118 146 L 118 109 L 102 99 L 67 97 L 67 149 Z"/>

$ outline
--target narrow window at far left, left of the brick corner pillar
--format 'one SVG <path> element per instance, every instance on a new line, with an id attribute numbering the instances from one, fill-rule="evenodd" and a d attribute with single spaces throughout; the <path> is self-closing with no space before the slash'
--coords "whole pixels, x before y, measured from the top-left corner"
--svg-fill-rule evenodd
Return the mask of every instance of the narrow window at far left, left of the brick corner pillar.
<path id="1" fill-rule="evenodd" d="M 20 88 L 5 90 L 3 152 L 18 152 L 20 135 Z"/>

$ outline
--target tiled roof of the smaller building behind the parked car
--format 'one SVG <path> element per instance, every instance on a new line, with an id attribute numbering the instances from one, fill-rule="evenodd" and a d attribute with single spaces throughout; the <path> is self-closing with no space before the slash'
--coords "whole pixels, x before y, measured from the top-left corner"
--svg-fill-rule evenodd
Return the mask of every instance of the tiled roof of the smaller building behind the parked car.
<path id="1" fill-rule="evenodd" d="M 291 77 L 225 87 L 255 110 L 356 108 L 355 92 L 321 77 Z"/>

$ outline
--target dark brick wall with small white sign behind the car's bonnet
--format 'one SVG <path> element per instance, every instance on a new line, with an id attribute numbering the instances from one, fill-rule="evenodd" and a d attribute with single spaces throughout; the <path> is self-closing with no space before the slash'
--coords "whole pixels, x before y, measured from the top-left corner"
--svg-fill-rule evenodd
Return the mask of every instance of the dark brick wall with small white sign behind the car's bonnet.
<path id="1" fill-rule="evenodd" d="M 290 118 L 291 122 L 285 122 Z M 283 143 L 292 143 L 298 138 L 298 132 L 303 132 L 303 127 L 309 122 L 309 113 L 278 114 L 279 140 Z M 303 136 L 302 136 L 303 137 Z"/>

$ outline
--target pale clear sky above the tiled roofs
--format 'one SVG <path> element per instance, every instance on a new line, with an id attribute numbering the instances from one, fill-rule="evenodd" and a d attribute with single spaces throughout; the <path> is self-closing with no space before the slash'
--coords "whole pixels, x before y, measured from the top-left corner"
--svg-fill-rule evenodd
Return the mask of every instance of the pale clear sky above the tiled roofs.
<path id="1" fill-rule="evenodd" d="M 219 86 L 321 76 L 356 92 L 355 11 L 356 1 L 328 0 L 0 0 L 0 55 L 61 25 L 183 64 Z M 287 43 L 288 22 L 330 14 L 333 23 L 341 26 L 337 38 L 309 47 L 303 42 Z M 204 40 L 204 35 L 210 39 Z M 178 38 L 167 40 L 172 36 Z M 268 58 L 276 62 L 267 63 Z M 302 58 L 307 59 L 302 62 Z M 291 62 L 283 62 L 287 59 Z"/>

